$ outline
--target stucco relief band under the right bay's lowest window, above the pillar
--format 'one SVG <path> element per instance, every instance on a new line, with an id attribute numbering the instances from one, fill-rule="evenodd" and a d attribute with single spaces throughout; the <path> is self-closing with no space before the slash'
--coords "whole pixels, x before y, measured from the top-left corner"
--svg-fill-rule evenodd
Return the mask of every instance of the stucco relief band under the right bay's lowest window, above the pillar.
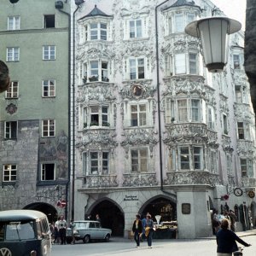
<path id="1" fill-rule="evenodd" d="M 218 175 L 209 172 L 167 172 L 166 175 L 165 185 L 204 184 L 215 187 L 221 184 Z"/>

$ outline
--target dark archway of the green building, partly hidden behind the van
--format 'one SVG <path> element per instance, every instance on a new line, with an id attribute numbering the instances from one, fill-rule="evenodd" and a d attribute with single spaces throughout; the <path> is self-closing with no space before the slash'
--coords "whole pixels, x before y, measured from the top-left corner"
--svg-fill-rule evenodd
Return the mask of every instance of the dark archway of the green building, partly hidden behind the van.
<path id="1" fill-rule="evenodd" d="M 24 207 L 24 209 L 44 212 L 44 214 L 48 217 L 49 223 L 56 221 L 58 218 L 58 212 L 56 211 L 55 207 L 49 205 L 48 203 L 36 202 L 27 205 Z"/>

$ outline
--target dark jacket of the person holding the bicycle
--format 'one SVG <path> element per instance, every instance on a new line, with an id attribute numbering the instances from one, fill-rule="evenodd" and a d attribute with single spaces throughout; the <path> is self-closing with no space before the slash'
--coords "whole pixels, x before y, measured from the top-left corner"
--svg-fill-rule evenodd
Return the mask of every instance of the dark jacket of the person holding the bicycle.
<path id="1" fill-rule="evenodd" d="M 231 230 L 218 230 L 216 235 L 217 253 L 233 253 L 238 250 L 236 241 L 240 242 L 243 246 L 248 247 L 247 242 L 241 240 Z"/>

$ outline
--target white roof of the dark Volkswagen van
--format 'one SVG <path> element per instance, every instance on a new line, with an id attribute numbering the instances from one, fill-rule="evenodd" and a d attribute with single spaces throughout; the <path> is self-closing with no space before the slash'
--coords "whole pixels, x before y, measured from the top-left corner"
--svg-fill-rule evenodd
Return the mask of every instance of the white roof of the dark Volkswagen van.
<path id="1" fill-rule="evenodd" d="M 38 218 L 46 218 L 46 215 L 43 212 L 34 210 L 9 210 L 0 212 L 0 221 L 17 221 Z"/>

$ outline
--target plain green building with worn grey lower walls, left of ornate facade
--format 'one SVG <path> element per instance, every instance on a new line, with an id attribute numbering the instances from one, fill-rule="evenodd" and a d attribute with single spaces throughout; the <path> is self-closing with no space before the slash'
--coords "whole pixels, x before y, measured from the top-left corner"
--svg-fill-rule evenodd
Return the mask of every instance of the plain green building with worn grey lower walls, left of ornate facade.
<path id="1" fill-rule="evenodd" d="M 70 6 L 3 1 L 0 59 L 11 86 L 0 96 L 0 210 L 67 213 Z M 56 6 L 55 6 L 56 5 Z"/>

